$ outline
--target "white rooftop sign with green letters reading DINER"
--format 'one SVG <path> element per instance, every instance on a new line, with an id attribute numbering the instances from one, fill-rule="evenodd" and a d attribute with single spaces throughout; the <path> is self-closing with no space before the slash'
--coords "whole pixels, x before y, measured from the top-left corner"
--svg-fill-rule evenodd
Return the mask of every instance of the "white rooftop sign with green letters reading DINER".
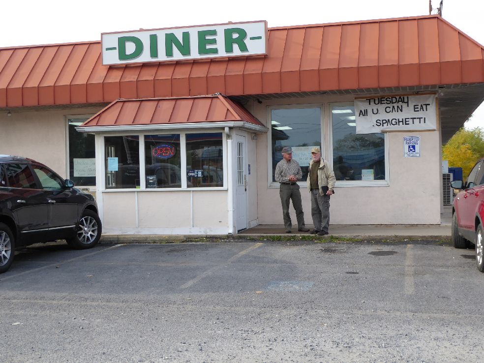
<path id="1" fill-rule="evenodd" d="M 102 64 L 267 54 L 267 22 L 102 33 Z"/>

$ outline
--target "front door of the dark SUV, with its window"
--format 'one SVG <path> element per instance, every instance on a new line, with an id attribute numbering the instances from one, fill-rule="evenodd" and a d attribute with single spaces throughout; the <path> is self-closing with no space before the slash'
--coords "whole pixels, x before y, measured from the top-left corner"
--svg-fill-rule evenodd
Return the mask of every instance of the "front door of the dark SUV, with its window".
<path id="1" fill-rule="evenodd" d="M 79 203 L 77 193 L 64 187 L 64 180 L 52 170 L 31 165 L 49 204 L 49 232 L 51 238 L 60 239 L 75 231 L 78 221 Z"/>

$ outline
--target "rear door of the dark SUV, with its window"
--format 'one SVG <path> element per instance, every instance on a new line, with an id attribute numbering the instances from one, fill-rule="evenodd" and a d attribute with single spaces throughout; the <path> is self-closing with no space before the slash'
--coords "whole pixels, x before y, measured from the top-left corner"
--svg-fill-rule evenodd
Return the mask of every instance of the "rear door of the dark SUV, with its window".
<path id="1" fill-rule="evenodd" d="M 19 224 L 20 244 L 44 241 L 49 228 L 48 199 L 29 164 L 8 163 L 6 176 L 11 211 Z"/>

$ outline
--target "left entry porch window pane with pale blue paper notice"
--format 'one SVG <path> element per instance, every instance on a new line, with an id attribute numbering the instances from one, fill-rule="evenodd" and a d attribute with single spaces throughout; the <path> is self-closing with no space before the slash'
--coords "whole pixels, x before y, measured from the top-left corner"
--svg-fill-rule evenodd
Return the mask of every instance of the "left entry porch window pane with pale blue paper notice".
<path id="1" fill-rule="evenodd" d="M 105 136 L 106 189 L 140 187 L 139 136 Z"/>

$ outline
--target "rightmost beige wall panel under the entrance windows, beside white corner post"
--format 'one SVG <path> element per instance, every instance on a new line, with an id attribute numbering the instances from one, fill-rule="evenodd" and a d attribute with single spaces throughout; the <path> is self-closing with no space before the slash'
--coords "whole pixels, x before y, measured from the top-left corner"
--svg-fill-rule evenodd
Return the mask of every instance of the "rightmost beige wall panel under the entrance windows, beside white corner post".
<path id="1" fill-rule="evenodd" d="M 227 191 L 193 191 L 193 227 L 227 227 Z M 188 220 L 190 215 L 185 216 Z"/>

